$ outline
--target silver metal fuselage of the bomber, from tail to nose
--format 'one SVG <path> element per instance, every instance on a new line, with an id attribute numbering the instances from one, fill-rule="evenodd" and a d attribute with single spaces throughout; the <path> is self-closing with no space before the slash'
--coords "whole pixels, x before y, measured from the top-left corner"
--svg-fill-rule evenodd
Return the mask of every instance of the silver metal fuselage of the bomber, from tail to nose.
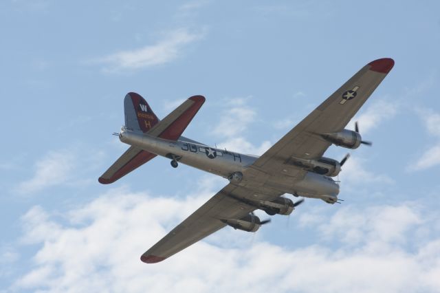
<path id="1" fill-rule="evenodd" d="M 124 128 L 120 131 L 119 138 L 121 142 L 137 146 L 144 151 L 224 178 L 243 172 L 259 158 L 256 155 L 244 155 L 185 140 L 164 140 Z M 307 171 L 305 177 L 294 182 L 294 185 L 293 182 L 287 182 L 288 180 L 289 177 L 285 177 L 286 182 L 283 184 L 281 179 L 276 189 L 283 193 L 320 198 L 331 203 L 338 199 L 339 185 L 331 177 Z"/>

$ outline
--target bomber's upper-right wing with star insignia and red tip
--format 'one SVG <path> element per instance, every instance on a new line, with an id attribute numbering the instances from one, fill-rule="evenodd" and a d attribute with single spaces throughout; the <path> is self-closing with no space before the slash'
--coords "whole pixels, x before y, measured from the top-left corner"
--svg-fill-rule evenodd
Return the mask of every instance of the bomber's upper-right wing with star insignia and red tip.
<path id="1" fill-rule="evenodd" d="M 256 160 L 252 168 L 276 175 L 292 156 L 304 159 L 322 157 L 331 143 L 320 134 L 342 131 L 393 65 L 391 58 L 377 59 L 365 65 Z"/>

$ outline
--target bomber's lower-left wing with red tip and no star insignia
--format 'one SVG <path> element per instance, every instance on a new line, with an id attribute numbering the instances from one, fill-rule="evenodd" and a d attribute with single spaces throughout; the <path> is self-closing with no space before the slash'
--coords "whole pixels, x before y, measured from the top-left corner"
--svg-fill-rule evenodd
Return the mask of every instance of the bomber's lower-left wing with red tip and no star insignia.
<path id="1" fill-rule="evenodd" d="M 144 263 L 163 261 L 226 226 L 221 219 L 240 219 L 248 215 L 256 208 L 238 198 L 252 198 L 253 194 L 249 188 L 228 184 L 142 254 L 140 259 Z M 264 197 L 259 199 L 273 199 L 279 195 L 276 191 L 266 191 Z"/>

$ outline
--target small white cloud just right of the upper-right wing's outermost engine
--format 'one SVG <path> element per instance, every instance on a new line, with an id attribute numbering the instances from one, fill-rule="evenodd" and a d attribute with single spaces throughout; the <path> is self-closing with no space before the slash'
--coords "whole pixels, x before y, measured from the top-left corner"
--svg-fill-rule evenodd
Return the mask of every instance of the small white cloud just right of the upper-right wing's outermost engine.
<path id="1" fill-rule="evenodd" d="M 398 105 L 385 100 L 378 100 L 371 104 L 360 116 L 355 116 L 347 126 L 347 129 L 355 129 L 355 121 L 358 121 L 360 133 L 364 134 L 377 127 L 382 121 L 391 119 L 397 113 Z"/>

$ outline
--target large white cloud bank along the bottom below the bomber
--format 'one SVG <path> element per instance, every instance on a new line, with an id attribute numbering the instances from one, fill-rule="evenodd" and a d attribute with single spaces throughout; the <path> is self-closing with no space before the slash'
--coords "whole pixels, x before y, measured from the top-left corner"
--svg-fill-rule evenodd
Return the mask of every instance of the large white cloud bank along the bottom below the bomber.
<path id="1" fill-rule="evenodd" d="M 430 229 L 439 218 L 426 225 L 421 212 L 405 204 L 340 210 L 318 226 L 333 244 L 342 239 L 335 249 L 327 247 L 325 241 L 303 248 L 282 248 L 262 241 L 252 246 L 248 241 L 225 243 L 225 237 L 218 237 L 214 242 L 210 238 L 196 243 L 161 263 L 142 263 L 140 254 L 211 192 L 173 199 L 115 189 L 82 208 L 70 210 L 63 218 L 64 224 L 41 208 L 32 208 L 23 217 L 25 239 L 41 243 L 41 248 L 32 257 L 30 270 L 10 289 L 436 292 L 440 286 L 439 235 L 423 245 L 412 237 L 413 230 L 421 226 Z M 219 233 L 252 237 L 231 228 Z M 350 241 L 359 245 L 351 247 Z"/>

